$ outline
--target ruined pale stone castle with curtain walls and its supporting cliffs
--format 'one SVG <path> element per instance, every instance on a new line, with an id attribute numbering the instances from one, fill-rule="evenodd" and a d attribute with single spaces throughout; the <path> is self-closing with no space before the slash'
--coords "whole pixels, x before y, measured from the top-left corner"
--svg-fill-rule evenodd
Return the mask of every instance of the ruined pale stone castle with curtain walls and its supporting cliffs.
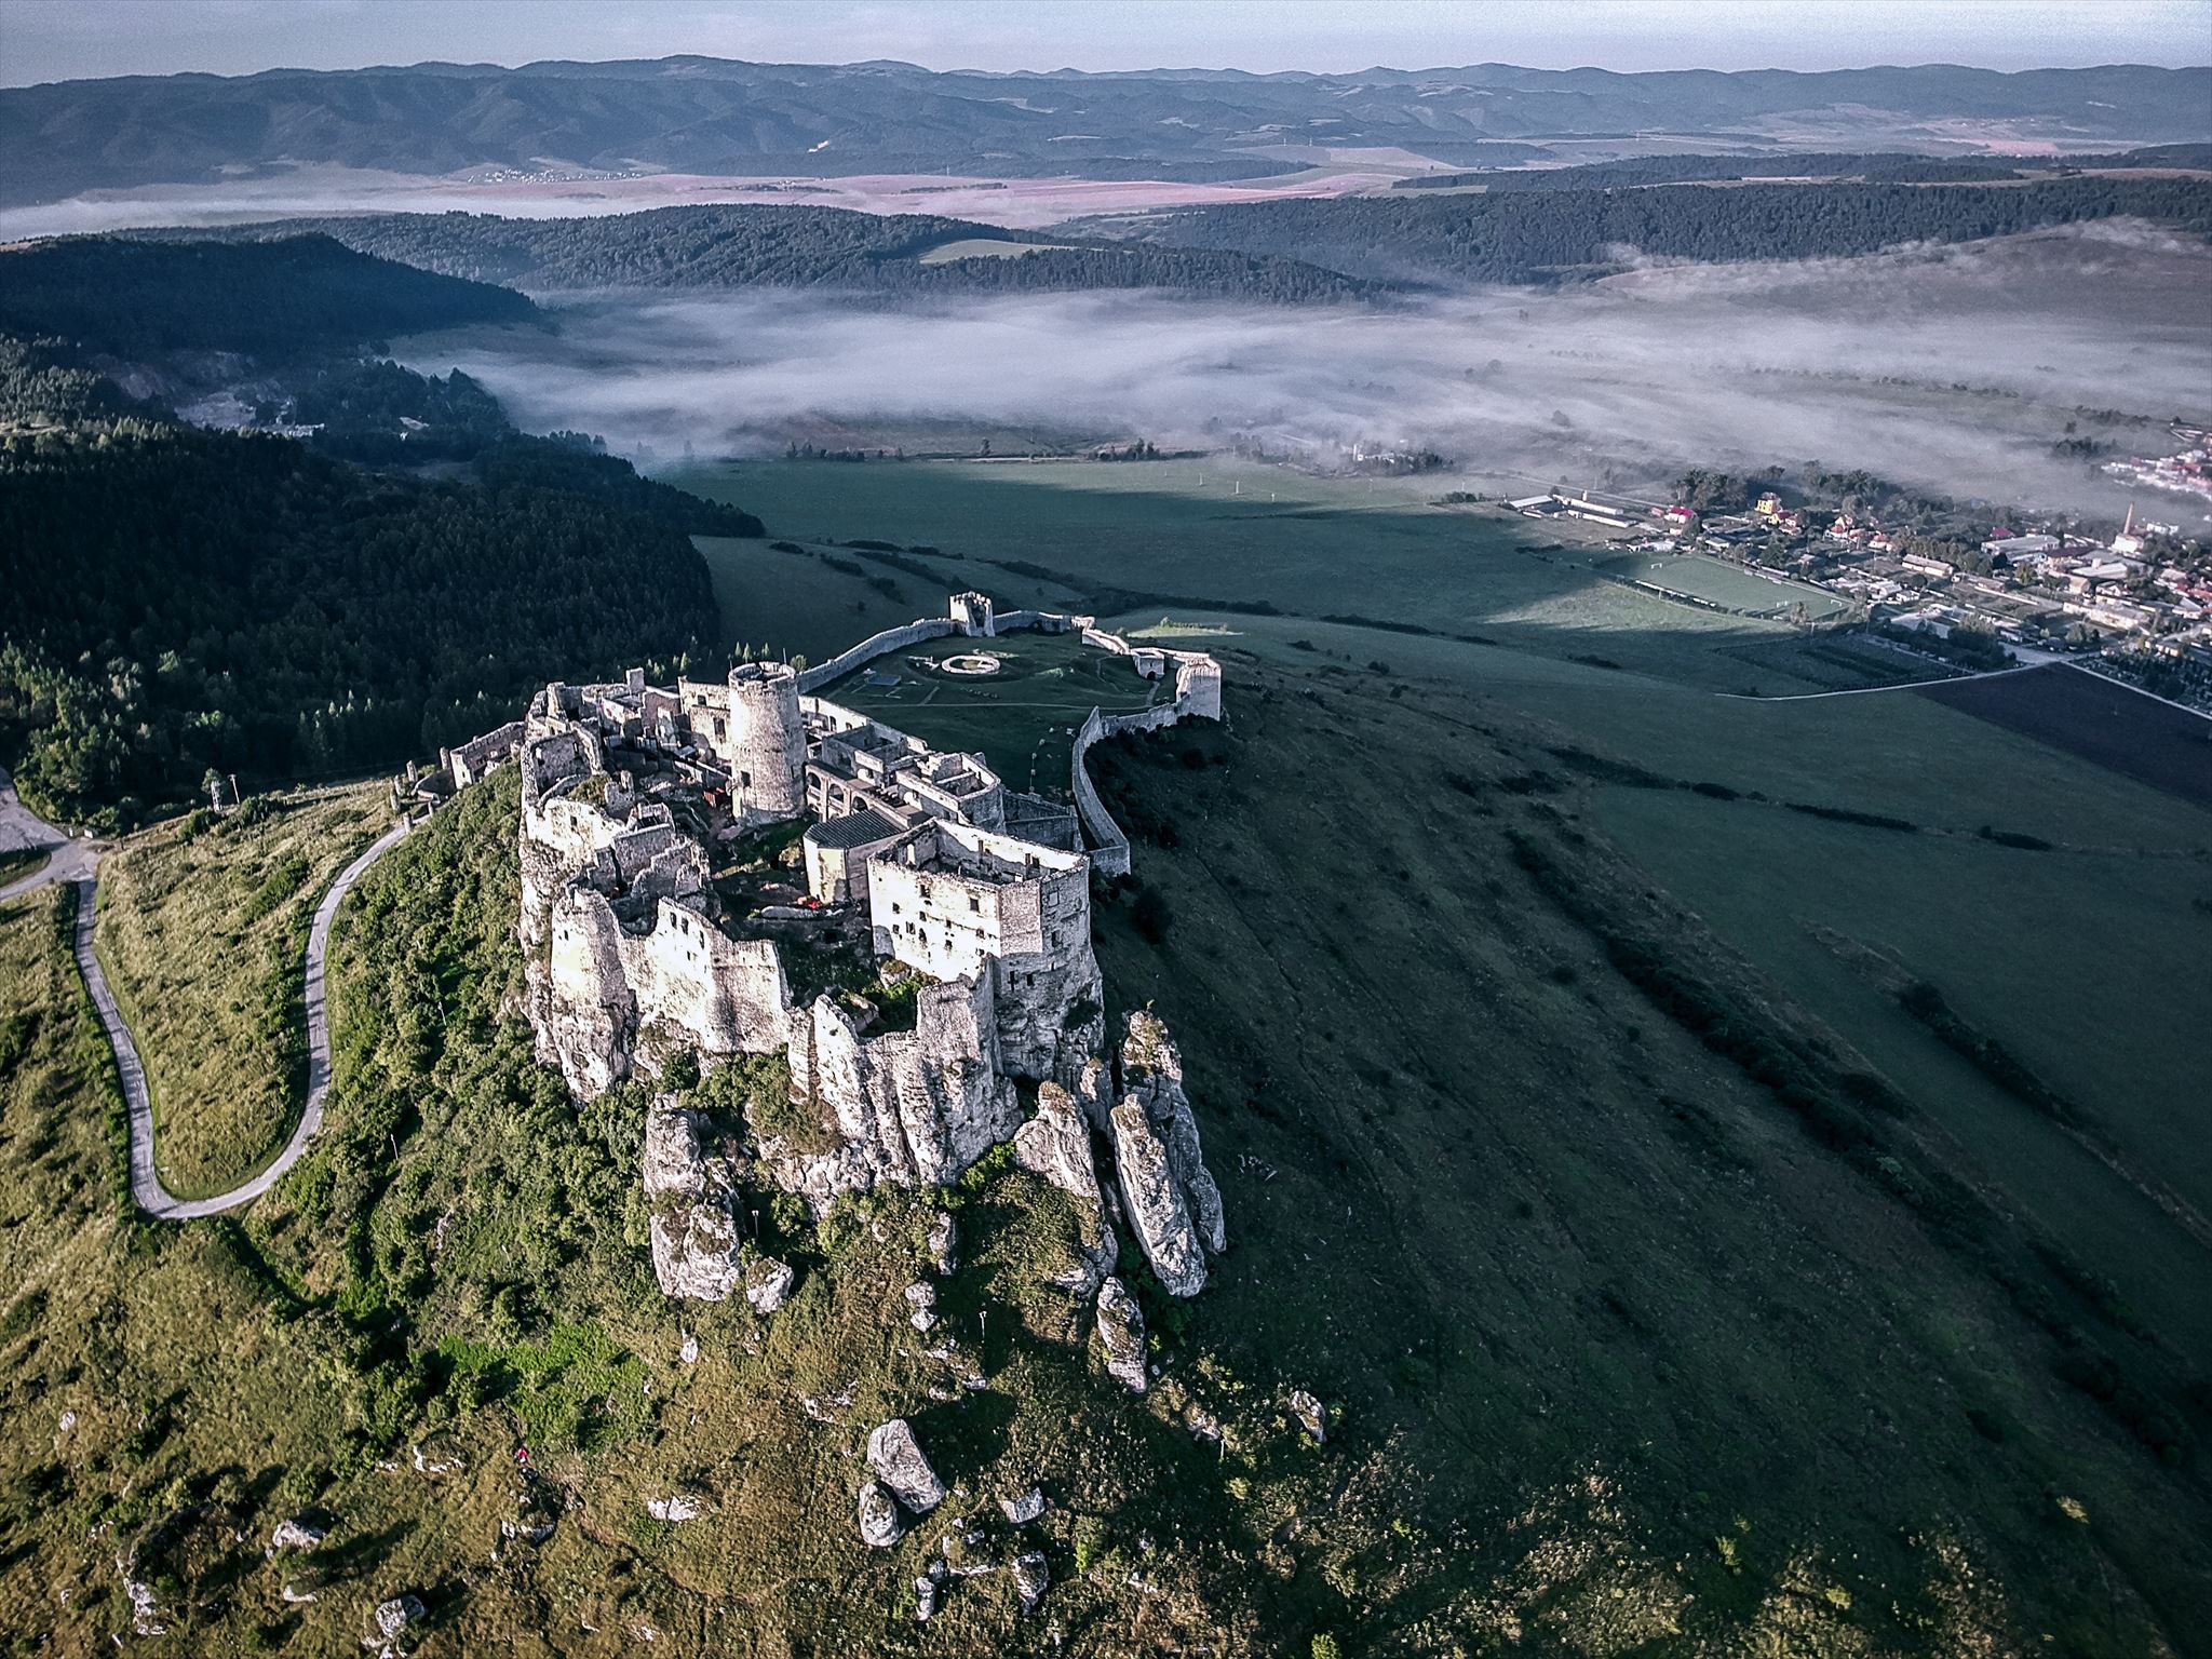
<path id="1" fill-rule="evenodd" d="M 810 695 L 918 639 L 1011 628 L 1079 630 L 1128 657 L 1133 672 L 1175 677 L 1172 701 L 1113 721 L 1093 712 L 1077 737 L 1073 805 L 1009 790 L 980 754 L 931 750 Z M 947 617 L 876 635 L 821 670 L 741 664 L 726 681 L 684 679 L 672 690 L 648 686 L 639 670 L 608 686 L 551 684 L 518 730 L 451 752 L 449 770 L 460 785 L 465 768 L 473 776 L 515 750 L 526 1013 L 540 1060 L 560 1066 L 573 1095 L 659 1077 L 679 1055 L 701 1068 L 783 1055 L 792 1113 L 818 1133 L 761 1133 L 759 1170 L 816 1208 L 878 1181 L 956 1179 L 1024 1130 L 1024 1088 L 1053 1091 L 1040 1102 L 1062 1102 L 1055 1124 L 1086 1121 L 1133 1157 L 1152 1146 L 1155 1130 L 1139 1126 L 1157 1121 L 1175 1164 L 1146 1152 L 1144 1170 L 1126 1172 L 1121 1201 L 1148 1256 L 1168 1267 L 1164 1281 L 1192 1294 L 1206 1250 L 1223 1243 L 1219 1203 L 1208 1210 L 1186 1197 L 1212 1181 L 1197 1164 L 1179 1086 L 1168 1097 L 1146 1084 L 1150 1104 L 1121 1110 L 1128 1126 L 1115 1117 L 1091 872 L 1126 869 L 1128 843 L 1079 757 L 1104 730 L 1190 717 L 1221 717 L 1210 657 L 1130 648 L 1088 617 L 995 615 L 989 597 L 962 593 Z M 728 874 L 717 883 L 726 849 L 754 854 L 801 823 L 785 863 L 750 856 L 743 867 L 768 874 L 739 889 Z M 825 975 L 823 962 L 847 964 L 845 978 Z M 854 975 L 869 975 L 880 995 L 836 989 Z M 1144 1053 L 1164 1044 L 1164 1033 L 1146 1035 Z M 672 1099 L 657 1110 L 675 1113 Z M 681 1126 L 661 1128 L 664 1150 L 690 1144 Z M 1088 1128 L 1073 1135 L 1086 1141 Z M 1053 1170 L 1075 1166 L 1082 1179 L 1071 1190 L 1113 1206 L 1113 1190 L 1088 1175 L 1088 1146 L 1053 1152 Z M 737 1239 L 717 1219 L 719 1188 L 672 1168 L 655 1181 L 664 1194 L 697 1188 L 714 1212 L 655 1210 L 664 1287 L 728 1294 Z M 1106 1245 L 1093 1276 L 1104 1276 L 1113 1265 L 1104 1208 L 1097 1232 Z M 695 1259 L 701 1250 L 714 1259 Z"/>

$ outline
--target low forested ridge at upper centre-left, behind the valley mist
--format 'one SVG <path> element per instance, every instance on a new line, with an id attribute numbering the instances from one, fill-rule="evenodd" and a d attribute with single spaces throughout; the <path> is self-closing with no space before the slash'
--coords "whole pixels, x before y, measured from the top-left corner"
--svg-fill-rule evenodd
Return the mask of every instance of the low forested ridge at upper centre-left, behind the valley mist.
<path id="1" fill-rule="evenodd" d="M 195 237 L 327 234 L 347 248 L 484 283 L 593 288 L 849 288 L 891 292 L 1066 292 L 1168 288 L 1223 299 L 1345 299 L 1369 288 L 1292 250 L 1243 254 L 1159 243 L 1082 241 L 936 215 L 845 208 L 655 208 L 597 219 L 495 219 L 394 212 L 281 219 Z M 964 239 L 1051 243 L 1018 259 L 920 257 Z"/>

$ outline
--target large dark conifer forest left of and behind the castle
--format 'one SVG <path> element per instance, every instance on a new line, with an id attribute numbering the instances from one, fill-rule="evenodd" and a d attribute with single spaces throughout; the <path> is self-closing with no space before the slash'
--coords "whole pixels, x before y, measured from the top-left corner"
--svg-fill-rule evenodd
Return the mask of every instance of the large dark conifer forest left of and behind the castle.
<path id="1" fill-rule="evenodd" d="M 29 799 L 106 818 L 210 765 L 389 765 L 544 679 L 701 650 L 717 613 L 686 529 L 745 522 L 551 440 L 420 482 L 137 418 L 13 436 L 0 750 Z"/>

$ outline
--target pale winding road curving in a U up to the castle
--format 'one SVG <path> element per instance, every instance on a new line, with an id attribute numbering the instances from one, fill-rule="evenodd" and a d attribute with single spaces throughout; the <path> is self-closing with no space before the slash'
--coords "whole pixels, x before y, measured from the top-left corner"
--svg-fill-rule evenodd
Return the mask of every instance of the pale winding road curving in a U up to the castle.
<path id="1" fill-rule="evenodd" d="M 307 929 L 307 971 L 303 975 L 303 1000 L 307 1004 L 307 1104 L 299 1113 L 292 1139 L 283 1144 L 283 1150 L 265 1170 L 228 1192 L 217 1192 L 210 1199 L 179 1199 L 161 1186 L 161 1175 L 153 1166 L 153 1097 L 146 1093 L 146 1066 L 139 1062 L 137 1044 L 131 1040 L 131 1026 L 124 1024 L 122 1009 L 115 1006 L 108 978 L 100 971 L 100 958 L 93 956 L 100 856 L 106 847 L 95 841 L 71 841 L 22 805 L 15 799 L 13 785 L 0 781 L 0 849 L 53 847 L 53 856 L 44 869 L 9 887 L 0 887 L 0 902 L 60 880 L 73 883 L 77 889 L 77 971 L 84 973 L 84 989 L 91 991 L 93 1009 L 100 1011 L 100 1024 L 108 1033 L 108 1048 L 115 1053 L 115 1075 L 122 1079 L 124 1102 L 131 1108 L 131 1197 L 146 1214 L 159 1221 L 195 1221 L 199 1217 L 223 1214 L 259 1199 L 285 1177 L 285 1170 L 299 1164 L 301 1152 L 307 1150 L 307 1141 L 323 1126 L 323 1099 L 330 1095 L 330 1006 L 323 987 L 330 922 L 338 914 L 338 905 L 345 902 L 347 889 L 361 880 L 361 874 L 369 865 L 392 852 L 405 838 L 407 830 L 407 821 L 400 818 L 369 843 L 354 863 L 338 872 L 330 891 L 323 894 L 323 902 L 314 907 L 314 922 Z"/>

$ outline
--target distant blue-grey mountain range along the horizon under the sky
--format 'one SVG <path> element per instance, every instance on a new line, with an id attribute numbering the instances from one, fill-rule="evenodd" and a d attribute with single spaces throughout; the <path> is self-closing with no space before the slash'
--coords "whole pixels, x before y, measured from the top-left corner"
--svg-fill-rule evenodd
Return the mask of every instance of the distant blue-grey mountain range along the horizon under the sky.
<path id="1" fill-rule="evenodd" d="M 2212 139 L 2212 69 L 936 73 L 712 58 L 131 75 L 0 88 L 0 206 L 299 166 L 1256 177 L 1343 150 L 1444 166 L 1588 139 L 2115 148 Z"/>

